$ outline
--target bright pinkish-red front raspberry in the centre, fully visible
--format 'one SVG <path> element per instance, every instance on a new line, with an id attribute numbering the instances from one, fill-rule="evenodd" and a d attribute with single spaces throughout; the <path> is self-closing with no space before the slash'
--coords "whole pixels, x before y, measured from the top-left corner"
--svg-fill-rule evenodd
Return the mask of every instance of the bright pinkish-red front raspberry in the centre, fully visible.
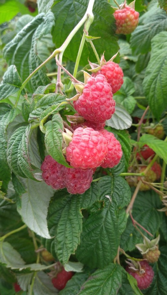
<path id="1" fill-rule="evenodd" d="M 101 165 L 107 152 L 107 140 L 99 131 L 79 127 L 66 148 L 66 157 L 75 168 L 95 168 Z"/>

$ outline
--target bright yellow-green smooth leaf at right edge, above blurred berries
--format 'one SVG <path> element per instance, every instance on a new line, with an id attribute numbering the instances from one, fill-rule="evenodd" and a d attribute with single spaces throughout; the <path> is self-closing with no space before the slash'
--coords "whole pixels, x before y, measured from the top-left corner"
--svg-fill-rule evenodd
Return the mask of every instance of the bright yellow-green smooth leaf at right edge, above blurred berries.
<path id="1" fill-rule="evenodd" d="M 140 144 L 141 146 L 143 145 L 148 145 L 154 152 L 165 161 L 167 164 L 167 142 L 158 139 L 157 137 L 154 137 L 153 135 L 150 134 L 143 134 L 140 137 Z"/>

